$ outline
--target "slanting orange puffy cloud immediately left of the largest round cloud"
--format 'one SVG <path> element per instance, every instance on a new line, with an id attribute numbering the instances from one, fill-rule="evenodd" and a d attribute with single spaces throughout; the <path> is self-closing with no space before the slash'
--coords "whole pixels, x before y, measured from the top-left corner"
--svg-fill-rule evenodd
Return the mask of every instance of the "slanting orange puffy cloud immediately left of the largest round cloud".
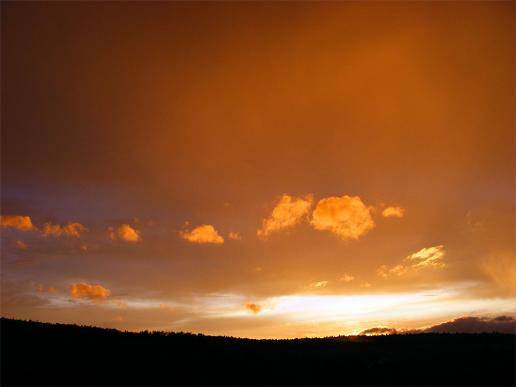
<path id="1" fill-rule="evenodd" d="M 267 238 L 273 232 L 295 226 L 308 214 L 312 202 L 312 195 L 296 198 L 283 194 L 271 215 L 262 221 L 262 227 L 256 232 L 256 235 L 260 238 Z"/>

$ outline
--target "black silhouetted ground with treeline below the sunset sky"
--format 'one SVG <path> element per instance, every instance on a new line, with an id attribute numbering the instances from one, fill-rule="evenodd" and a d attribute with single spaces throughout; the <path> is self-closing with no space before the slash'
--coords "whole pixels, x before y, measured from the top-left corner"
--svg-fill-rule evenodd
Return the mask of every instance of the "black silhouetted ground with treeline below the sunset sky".
<path id="1" fill-rule="evenodd" d="M 2 385 L 515 385 L 515 336 L 247 340 L 1 319 Z"/>

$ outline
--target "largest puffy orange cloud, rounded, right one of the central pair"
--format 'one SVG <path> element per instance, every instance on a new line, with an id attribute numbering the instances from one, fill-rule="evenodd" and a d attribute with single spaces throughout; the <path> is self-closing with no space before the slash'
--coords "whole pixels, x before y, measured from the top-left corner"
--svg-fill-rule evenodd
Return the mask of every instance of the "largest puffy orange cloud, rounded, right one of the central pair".
<path id="1" fill-rule="evenodd" d="M 342 239 L 358 239 L 375 226 L 371 207 L 358 196 L 328 197 L 319 200 L 310 221 L 316 230 L 330 231 Z"/>

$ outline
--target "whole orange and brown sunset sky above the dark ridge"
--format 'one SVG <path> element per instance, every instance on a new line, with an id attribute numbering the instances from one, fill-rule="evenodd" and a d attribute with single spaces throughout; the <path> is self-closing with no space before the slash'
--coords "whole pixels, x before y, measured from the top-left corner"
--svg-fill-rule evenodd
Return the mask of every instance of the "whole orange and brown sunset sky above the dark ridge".
<path id="1" fill-rule="evenodd" d="M 515 317 L 514 11 L 2 2 L 2 316 L 252 338 Z"/>

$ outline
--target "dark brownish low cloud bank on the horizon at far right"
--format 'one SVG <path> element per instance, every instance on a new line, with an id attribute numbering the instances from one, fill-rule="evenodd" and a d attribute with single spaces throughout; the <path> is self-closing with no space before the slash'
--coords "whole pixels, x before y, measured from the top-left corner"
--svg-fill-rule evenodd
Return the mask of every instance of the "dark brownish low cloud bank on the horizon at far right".
<path id="1" fill-rule="evenodd" d="M 424 330 L 435 333 L 511 333 L 516 334 L 516 320 L 510 316 L 460 317 Z"/>

